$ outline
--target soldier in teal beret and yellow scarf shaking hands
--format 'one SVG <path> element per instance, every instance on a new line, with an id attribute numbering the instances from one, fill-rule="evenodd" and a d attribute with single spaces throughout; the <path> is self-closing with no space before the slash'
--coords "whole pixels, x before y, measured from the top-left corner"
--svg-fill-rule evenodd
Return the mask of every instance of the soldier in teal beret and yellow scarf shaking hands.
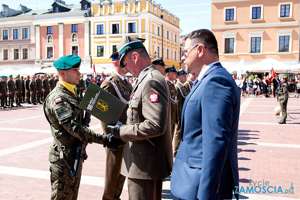
<path id="1" fill-rule="evenodd" d="M 53 63 L 60 81 L 44 102 L 44 113 L 54 137 L 49 150 L 51 200 L 77 199 L 80 179 L 71 176 L 71 172 L 79 141 L 95 142 L 115 150 L 124 144 L 121 140 L 109 142 L 112 134 L 95 133 L 81 123 L 83 110 L 79 108 L 80 98 L 74 91 L 81 75 L 80 63 L 77 55 L 63 56 Z M 81 171 L 82 163 L 79 164 L 80 175 Z"/>

